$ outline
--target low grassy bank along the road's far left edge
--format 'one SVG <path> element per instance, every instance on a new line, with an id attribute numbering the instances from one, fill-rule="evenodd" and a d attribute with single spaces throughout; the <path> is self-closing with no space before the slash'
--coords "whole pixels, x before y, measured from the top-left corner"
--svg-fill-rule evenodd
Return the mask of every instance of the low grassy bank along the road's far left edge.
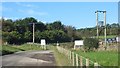
<path id="1" fill-rule="evenodd" d="M 23 45 L 2 45 L 0 47 L 1 55 L 12 54 L 18 51 L 27 51 L 27 50 L 42 50 L 39 45 L 35 44 L 23 44 Z"/>

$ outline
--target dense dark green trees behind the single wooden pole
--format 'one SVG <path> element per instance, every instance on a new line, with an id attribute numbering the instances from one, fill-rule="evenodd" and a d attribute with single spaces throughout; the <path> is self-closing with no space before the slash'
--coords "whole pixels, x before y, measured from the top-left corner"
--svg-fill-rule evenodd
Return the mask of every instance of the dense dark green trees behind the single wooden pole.
<path id="1" fill-rule="evenodd" d="M 46 39 L 47 43 L 71 42 L 75 39 L 82 39 L 72 26 L 65 26 L 61 21 L 44 24 L 33 17 L 18 20 L 5 20 L 2 18 L 2 39 L 9 44 L 23 44 L 32 42 L 33 25 L 35 23 L 35 43 Z"/>

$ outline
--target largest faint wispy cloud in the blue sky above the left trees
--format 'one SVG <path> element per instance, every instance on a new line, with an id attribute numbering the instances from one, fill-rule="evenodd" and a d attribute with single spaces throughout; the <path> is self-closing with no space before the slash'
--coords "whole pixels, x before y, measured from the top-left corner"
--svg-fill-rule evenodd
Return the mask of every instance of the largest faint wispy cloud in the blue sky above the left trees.
<path id="1" fill-rule="evenodd" d="M 44 16 L 44 15 L 48 15 L 47 12 L 40 12 L 40 11 L 35 11 L 32 9 L 28 9 L 28 10 L 19 10 L 19 12 L 25 13 L 27 15 L 38 15 L 38 16 Z"/>

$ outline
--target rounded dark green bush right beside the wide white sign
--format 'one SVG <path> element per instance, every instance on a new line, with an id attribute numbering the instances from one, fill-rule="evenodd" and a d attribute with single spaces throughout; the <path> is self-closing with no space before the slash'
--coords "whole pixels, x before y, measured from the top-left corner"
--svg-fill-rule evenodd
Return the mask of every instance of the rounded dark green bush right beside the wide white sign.
<path id="1" fill-rule="evenodd" d="M 86 38 L 84 40 L 84 49 L 87 51 L 93 51 L 99 47 L 99 41 L 95 38 Z"/>

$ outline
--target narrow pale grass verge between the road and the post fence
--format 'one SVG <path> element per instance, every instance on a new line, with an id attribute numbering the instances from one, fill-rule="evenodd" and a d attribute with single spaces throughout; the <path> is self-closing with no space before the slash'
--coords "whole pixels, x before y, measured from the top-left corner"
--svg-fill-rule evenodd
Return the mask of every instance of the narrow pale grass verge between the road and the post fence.
<path id="1" fill-rule="evenodd" d="M 71 66 L 68 58 L 57 51 L 56 46 L 50 46 L 50 49 L 53 50 L 57 66 Z"/>

